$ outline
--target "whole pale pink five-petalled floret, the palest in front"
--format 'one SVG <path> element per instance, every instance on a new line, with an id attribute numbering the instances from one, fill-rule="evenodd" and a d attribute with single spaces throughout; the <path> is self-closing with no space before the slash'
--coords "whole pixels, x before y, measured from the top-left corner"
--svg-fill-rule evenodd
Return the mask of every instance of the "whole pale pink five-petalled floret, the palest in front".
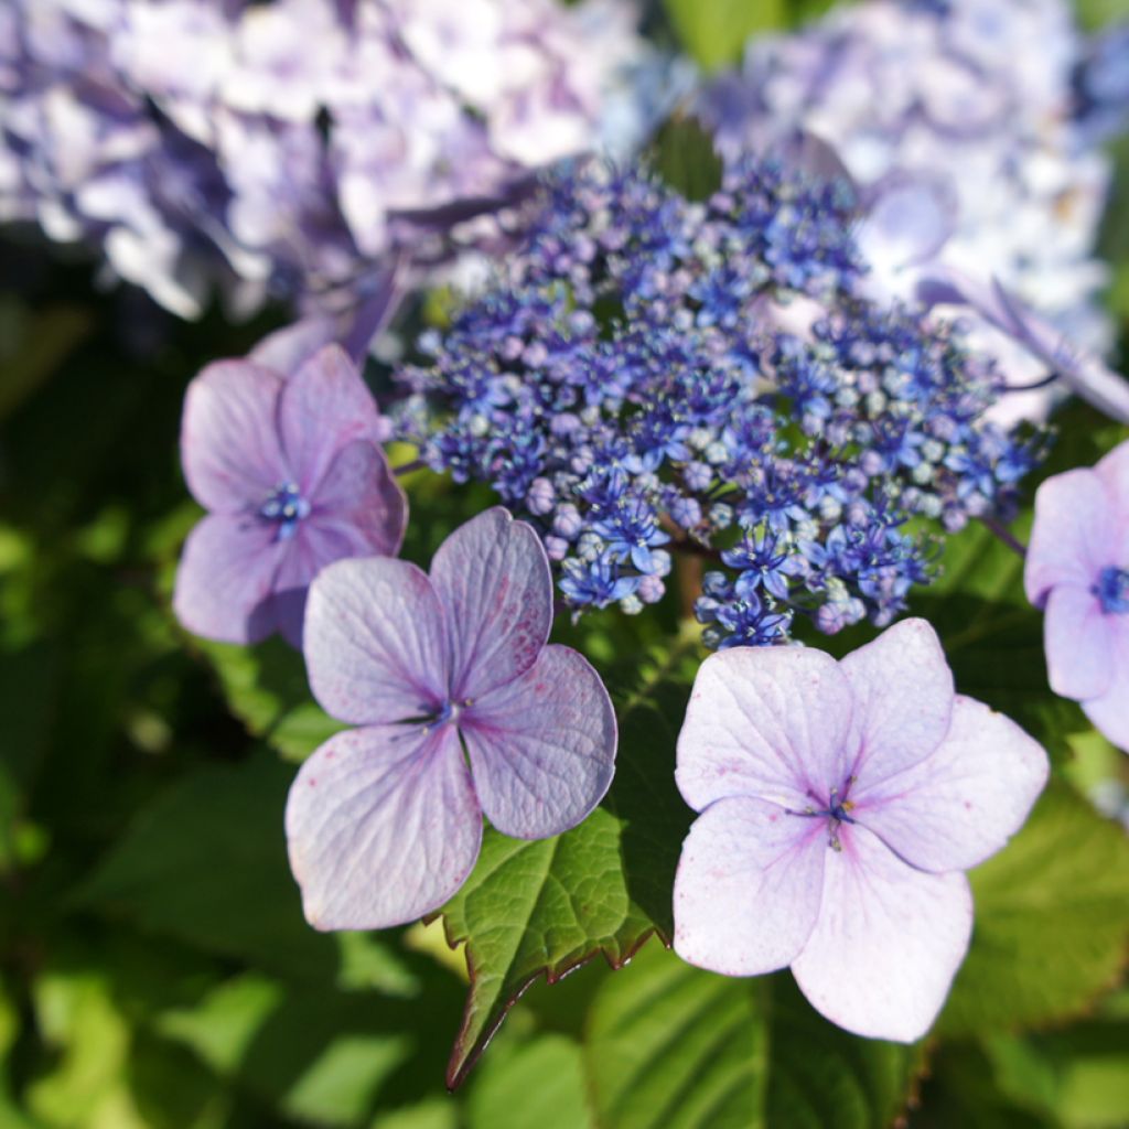
<path id="1" fill-rule="evenodd" d="M 856 1034 L 929 1030 L 964 959 L 964 870 L 1047 781 L 1043 750 L 954 693 L 933 628 L 903 620 L 842 662 L 719 651 L 698 673 L 677 782 L 701 815 L 674 885 L 674 947 L 726 975 L 791 965 Z"/>

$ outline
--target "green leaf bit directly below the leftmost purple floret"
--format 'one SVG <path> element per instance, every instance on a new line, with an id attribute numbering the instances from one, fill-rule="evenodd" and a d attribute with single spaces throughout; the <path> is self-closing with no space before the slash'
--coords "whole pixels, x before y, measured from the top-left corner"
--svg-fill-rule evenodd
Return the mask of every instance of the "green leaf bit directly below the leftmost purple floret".
<path id="1" fill-rule="evenodd" d="M 344 726 L 310 697 L 306 664 L 280 637 L 254 647 L 200 641 L 231 712 L 291 761 L 305 760 Z"/>

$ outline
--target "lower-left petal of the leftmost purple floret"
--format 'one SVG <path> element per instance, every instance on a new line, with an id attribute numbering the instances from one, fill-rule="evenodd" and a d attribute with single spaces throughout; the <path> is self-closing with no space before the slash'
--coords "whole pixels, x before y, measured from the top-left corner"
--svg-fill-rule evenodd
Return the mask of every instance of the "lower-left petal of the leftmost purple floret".
<path id="1" fill-rule="evenodd" d="M 173 610 L 192 632 L 221 642 L 259 642 L 274 630 L 269 601 L 286 546 L 254 517 L 209 514 L 189 534 Z"/>

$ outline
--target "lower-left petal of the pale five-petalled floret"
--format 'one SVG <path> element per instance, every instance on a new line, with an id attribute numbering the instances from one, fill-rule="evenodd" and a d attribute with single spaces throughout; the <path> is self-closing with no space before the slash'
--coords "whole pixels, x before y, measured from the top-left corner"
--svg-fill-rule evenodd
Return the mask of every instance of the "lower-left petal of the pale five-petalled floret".
<path id="1" fill-rule="evenodd" d="M 711 804 L 682 844 L 674 951 L 727 977 L 790 964 L 815 925 L 826 854 L 825 820 L 744 796 Z"/>

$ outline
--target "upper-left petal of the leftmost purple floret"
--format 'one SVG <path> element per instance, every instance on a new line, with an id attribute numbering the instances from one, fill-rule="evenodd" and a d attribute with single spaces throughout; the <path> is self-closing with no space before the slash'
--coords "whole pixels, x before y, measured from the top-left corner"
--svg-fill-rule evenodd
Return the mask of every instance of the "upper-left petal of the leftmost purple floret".
<path id="1" fill-rule="evenodd" d="M 237 513 L 289 478 L 274 422 L 281 390 L 277 373 L 245 360 L 209 365 L 189 385 L 181 461 L 201 506 Z"/>

